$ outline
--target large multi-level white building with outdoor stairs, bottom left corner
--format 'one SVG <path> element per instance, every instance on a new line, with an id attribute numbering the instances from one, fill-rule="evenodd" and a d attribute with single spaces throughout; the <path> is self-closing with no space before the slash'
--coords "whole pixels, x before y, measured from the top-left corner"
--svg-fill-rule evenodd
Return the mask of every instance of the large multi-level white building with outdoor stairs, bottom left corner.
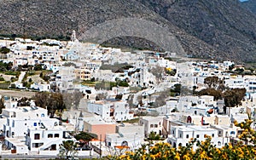
<path id="1" fill-rule="evenodd" d="M 71 140 L 68 132 L 74 130 L 73 125 L 60 125 L 58 119 L 48 117 L 46 109 L 37 106 L 3 109 L 3 117 L 7 118 L 4 143 L 17 154 L 47 151 L 42 154 L 56 155 L 62 141 Z"/>

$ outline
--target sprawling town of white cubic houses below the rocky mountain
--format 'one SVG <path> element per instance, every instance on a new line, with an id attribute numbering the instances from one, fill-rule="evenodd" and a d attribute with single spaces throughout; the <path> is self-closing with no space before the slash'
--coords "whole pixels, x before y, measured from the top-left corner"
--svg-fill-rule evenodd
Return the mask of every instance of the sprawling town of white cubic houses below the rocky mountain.
<path id="1" fill-rule="evenodd" d="M 191 138 L 205 140 L 206 135 L 222 147 L 235 143 L 241 134 L 235 121 L 243 121 L 247 114 L 256 120 L 255 72 L 229 60 L 184 61 L 175 53 L 107 48 L 80 43 L 75 32 L 70 42 L 15 38 L 0 40 L 0 48 L 9 49 L 1 61 L 20 71 L 18 77 L 1 72 L 11 82 L 9 89 L 83 94 L 79 105 L 72 103 L 61 118 L 50 117 L 47 108 L 33 101 L 31 106 L 19 106 L 20 97 L 2 95 L 2 155 L 56 156 L 62 141 L 76 141 L 73 135 L 81 131 L 96 134 L 97 139 L 89 142 L 90 149 L 79 148 L 79 156 L 135 150 L 147 140 L 186 146 Z M 37 67 L 38 72 L 29 74 Z M 207 83 L 207 77 L 218 77 L 217 84 Z M 195 94 L 204 89 L 246 93 L 241 103 L 230 107 L 221 95 Z"/>

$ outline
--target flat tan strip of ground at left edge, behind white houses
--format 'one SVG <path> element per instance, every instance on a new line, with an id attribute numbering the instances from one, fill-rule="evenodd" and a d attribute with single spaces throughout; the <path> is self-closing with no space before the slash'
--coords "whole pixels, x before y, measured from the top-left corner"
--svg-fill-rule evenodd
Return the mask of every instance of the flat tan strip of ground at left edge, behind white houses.
<path id="1" fill-rule="evenodd" d="M 35 95 L 35 92 L 28 92 L 25 90 L 17 91 L 17 90 L 0 89 L 0 95 L 31 98 L 33 95 Z"/>

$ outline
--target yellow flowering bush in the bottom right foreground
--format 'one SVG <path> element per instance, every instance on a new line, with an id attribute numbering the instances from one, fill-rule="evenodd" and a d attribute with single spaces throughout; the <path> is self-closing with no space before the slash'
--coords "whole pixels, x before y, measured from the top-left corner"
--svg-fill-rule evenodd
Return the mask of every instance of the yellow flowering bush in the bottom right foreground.
<path id="1" fill-rule="evenodd" d="M 205 141 L 192 139 L 187 146 L 179 146 L 177 149 L 172 148 L 168 143 L 157 143 L 154 146 L 143 145 L 136 151 L 126 151 L 125 154 L 120 157 L 109 158 L 119 160 L 256 160 L 256 132 L 250 127 L 252 123 L 253 121 L 250 117 L 246 119 L 245 122 L 235 122 L 236 126 L 243 129 L 240 135 L 240 141 L 235 145 L 228 144 L 222 148 L 217 148 L 212 145 L 212 138 L 206 136 Z M 195 150 L 193 149 L 194 145 L 197 146 Z"/>

